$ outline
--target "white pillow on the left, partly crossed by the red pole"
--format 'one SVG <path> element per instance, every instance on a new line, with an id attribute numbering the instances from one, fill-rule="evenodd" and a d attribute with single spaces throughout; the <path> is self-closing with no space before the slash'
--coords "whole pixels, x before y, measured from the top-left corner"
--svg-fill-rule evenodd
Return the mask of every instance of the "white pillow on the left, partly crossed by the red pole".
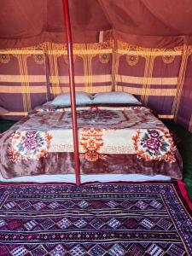
<path id="1" fill-rule="evenodd" d="M 87 105 L 91 103 L 92 96 L 89 93 L 78 91 L 76 92 L 76 104 Z M 50 103 L 53 106 L 68 107 L 71 105 L 69 92 L 56 96 Z"/>

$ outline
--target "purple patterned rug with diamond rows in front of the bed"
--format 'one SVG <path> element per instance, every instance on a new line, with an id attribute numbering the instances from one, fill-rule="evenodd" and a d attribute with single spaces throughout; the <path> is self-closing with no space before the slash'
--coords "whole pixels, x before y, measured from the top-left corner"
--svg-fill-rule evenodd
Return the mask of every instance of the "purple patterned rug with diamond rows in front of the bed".
<path id="1" fill-rule="evenodd" d="M 173 183 L 4 183 L 0 255 L 192 255 L 178 194 Z"/>

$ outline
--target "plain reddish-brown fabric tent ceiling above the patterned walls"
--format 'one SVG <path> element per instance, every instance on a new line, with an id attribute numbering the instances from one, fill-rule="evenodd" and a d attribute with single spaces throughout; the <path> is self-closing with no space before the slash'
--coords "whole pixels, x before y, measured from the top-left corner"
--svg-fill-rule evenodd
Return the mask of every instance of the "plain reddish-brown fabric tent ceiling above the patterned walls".
<path id="1" fill-rule="evenodd" d="M 137 36 L 192 35 L 191 0 L 69 0 L 75 42 L 110 30 Z M 0 39 L 63 34 L 62 0 L 0 0 Z M 64 41 L 64 37 L 63 37 Z"/>

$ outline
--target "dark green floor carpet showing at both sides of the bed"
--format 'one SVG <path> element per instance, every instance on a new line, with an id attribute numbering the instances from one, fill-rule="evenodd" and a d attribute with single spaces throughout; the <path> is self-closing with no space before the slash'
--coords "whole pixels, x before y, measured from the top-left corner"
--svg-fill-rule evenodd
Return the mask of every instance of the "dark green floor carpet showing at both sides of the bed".
<path id="1" fill-rule="evenodd" d="M 0 120 L 0 132 L 7 131 L 15 121 Z M 168 128 L 178 137 L 177 148 L 183 158 L 183 180 L 192 200 L 192 133 L 173 122 L 166 122 Z"/>

